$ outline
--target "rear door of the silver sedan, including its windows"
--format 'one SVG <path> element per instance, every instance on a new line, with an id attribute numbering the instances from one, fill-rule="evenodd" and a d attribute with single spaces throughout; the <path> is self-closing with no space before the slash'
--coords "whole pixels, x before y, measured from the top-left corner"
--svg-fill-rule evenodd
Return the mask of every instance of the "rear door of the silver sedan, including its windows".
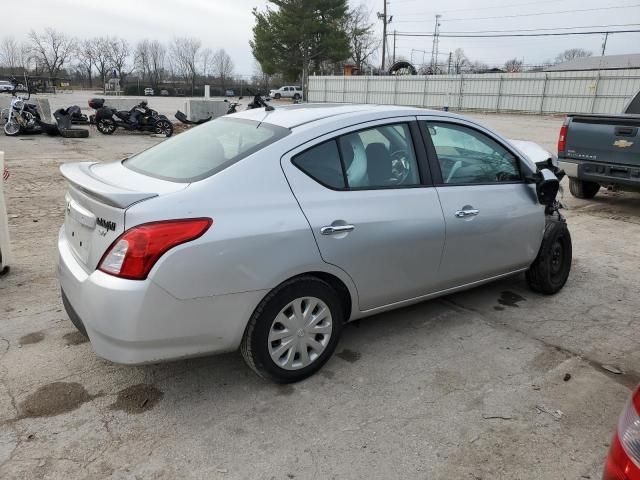
<path id="1" fill-rule="evenodd" d="M 415 118 L 351 127 L 282 158 L 324 261 L 370 310 L 438 287 L 444 220 Z"/>

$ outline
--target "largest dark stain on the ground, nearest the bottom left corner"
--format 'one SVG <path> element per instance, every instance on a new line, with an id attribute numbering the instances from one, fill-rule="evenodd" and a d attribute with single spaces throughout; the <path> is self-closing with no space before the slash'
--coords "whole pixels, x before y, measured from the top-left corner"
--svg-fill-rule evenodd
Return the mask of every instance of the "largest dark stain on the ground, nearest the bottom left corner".
<path id="1" fill-rule="evenodd" d="M 38 388 L 20 404 L 21 418 L 53 417 L 75 410 L 93 398 L 79 383 L 49 383 Z"/>

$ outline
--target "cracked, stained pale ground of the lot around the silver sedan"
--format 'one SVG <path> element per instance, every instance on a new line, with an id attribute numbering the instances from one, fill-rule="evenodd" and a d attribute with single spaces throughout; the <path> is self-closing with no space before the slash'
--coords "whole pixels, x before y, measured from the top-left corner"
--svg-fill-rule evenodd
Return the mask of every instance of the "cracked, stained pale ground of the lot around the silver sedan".
<path id="1" fill-rule="evenodd" d="M 562 121 L 473 116 L 548 148 Z M 559 294 L 515 277 L 350 324 L 319 374 L 276 386 L 237 353 L 108 363 L 62 309 L 59 165 L 159 141 L 0 135 L 15 251 L 0 278 L 0 478 L 600 478 L 640 382 L 640 195 L 566 188 L 574 262 Z"/>

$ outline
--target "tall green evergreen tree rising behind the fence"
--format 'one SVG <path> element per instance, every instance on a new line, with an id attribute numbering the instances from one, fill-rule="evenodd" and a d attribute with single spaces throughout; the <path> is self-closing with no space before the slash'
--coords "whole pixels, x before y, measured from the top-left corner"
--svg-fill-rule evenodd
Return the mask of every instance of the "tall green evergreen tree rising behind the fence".
<path id="1" fill-rule="evenodd" d="M 253 10 L 256 23 L 250 43 L 267 75 L 282 73 L 295 81 L 305 70 L 349 58 L 347 0 L 269 0 L 264 12 Z"/>

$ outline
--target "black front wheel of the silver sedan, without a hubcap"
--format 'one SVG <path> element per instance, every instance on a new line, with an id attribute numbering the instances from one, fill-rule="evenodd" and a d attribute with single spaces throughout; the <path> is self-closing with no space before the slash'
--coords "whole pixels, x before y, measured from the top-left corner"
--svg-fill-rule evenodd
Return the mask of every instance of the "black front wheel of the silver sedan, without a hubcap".
<path id="1" fill-rule="evenodd" d="M 559 292 L 569 278 L 572 252 L 566 222 L 547 217 L 540 251 L 526 273 L 529 288 L 545 295 Z"/>

